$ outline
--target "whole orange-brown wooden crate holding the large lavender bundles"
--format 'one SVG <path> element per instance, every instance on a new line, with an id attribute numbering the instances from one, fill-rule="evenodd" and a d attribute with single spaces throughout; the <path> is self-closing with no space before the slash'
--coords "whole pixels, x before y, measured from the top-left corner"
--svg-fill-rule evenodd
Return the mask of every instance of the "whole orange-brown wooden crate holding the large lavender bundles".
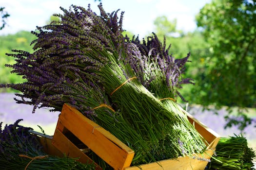
<path id="1" fill-rule="evenodd" d="M 98 124 L 87 119 L 77 109 L 66 103 L 63 105 L 61 114 L 59 115 L 52 144 L 66 155 L 80 157 L 80 159 L 82 157 L 84 161 L 92 162 L 78 146 L 79 142 L 83 143 L 86 145 L 85 147 L 89 147 L 90 150 L 115 170 L 204 170 L 208 162 L 198 160 L 197 158 L 210 159 L 220 136 L 186 111 L 184 113 L 187 114 L 189 121 L 208 143 L 207 151 L 203 154 L 195 154 L 196 158 L 194 159 L 185 156 L 130 167 L 134 151 Z M 76 144 L 76 140 L 73 140 L 74 138 L 79 141 L 78 144 Z M 98 166 L 98 168 L 100 167 Z"/>

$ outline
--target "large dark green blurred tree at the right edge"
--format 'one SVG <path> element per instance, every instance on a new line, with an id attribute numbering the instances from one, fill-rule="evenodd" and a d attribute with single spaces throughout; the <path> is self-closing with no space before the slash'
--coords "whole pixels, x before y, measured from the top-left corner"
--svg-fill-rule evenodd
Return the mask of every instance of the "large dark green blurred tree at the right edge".
<path id="1" fill-rule="evenodd" d="M 226 119 L 243 129 L 251 123 L 243 108 L 256 107 L 256 0 L 213 0 L 196 19 L 212 52 L 199 75 L 201 104 L 238 106 L 243 119 Z"/>

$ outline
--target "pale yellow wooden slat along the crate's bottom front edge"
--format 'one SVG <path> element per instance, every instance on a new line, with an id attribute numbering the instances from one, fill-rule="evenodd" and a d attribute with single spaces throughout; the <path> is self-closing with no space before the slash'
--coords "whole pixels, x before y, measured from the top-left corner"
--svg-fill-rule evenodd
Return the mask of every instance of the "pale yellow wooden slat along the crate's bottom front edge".
<path id="1" fill-rule="evenodd" d="M 195 154 L 196 158 L 189 156 L 179 157 L 176 160 L 166 159 L 149 164 L 125 168 L 125 170 L 204 170 L 207 161 L 198 160 L 198 157 L 210 159 L 213 150 L 206 151 L 203 155 Z"/>

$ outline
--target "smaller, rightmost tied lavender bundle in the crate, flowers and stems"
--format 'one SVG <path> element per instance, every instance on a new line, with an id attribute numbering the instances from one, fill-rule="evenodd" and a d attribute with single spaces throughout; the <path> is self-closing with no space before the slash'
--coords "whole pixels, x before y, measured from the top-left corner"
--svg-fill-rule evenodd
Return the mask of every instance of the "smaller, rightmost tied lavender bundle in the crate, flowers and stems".
<path id="1" fill-rule="evenodd" d="M 178 121 L 175 121 L 173 128 L 182 129 L 183 133 L 186 134 L 185 139 L 178 136 L 179 143 L 182 143 L 182 153 L 186 155 L 203 151 L 205 144 L 202 136 L 189 122 L 186 114 L 180 109 L 175 100 L 176 96 L 179 96 L 185 101 L 178 89 L 182 87 L 182 84 L 193 84 L 192 79 L 182 77 L 185 69 L 184 65 L 190 54 L 188 53 L 182 59 L 175 59 L 172 55 L 169 55 L 171 45 L 166 48 L 165 38 L 162 44 L 154 33 L 153 36 L 147 37 L 147 41 L 143 39 L 142 43 L 138 37 L 131 41 L 126 37 L 126 40 L 132 42 L 130 46 L 135 44 L 137 47 L 133 48 L 127 62 L 132 66 L 141 84 L 153 93 L 165 108 L 176 113 L 174 116 Z"/>

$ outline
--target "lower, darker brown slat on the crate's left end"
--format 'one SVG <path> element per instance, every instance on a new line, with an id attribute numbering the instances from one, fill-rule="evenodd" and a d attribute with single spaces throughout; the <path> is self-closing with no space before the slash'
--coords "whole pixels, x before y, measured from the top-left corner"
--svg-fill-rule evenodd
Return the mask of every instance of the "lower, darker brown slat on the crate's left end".
<path id="1" fill-rule="evenodd" d="M 91 164 L 94 161 L 85 153 L 81 152 L 76 145 L 74 145 L 66 136 L 64 136 L 58 129 L 55 131 L 52 139 L 52 144 L 68 157 L 79 158 L 78 161 L 84 164 Z M 94 163 L 96 170 L 102 170 L 98 164 Z"/>

